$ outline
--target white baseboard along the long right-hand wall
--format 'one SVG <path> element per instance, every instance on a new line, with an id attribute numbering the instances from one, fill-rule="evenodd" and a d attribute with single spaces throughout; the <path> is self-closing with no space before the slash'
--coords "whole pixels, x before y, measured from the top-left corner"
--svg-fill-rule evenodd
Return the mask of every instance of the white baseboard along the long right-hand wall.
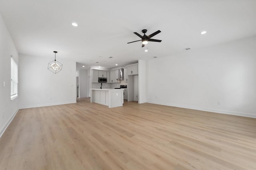
<path id="1" fill-rule="evenodd" d="M 219 110 L 219 109 L 209 109 L 209 108 L 196 107 L 196 106 L 184 106 L 184 105 L 178 105 L 178 104 L 170 104 L 170 103 L 162 103 L 162 102 L 153 102 L 153 101 L 147 101 L 147 103 L 160 104 L 160 105 L 165 105 L 165 106 L 182 107 L 182 108 L 186 108 L 186 109 L 195 109 L 195 110 L 202 110 L 202 111 L 210 111 L 210 112 L 223 113 L 223 114 L 228 114 L 228 115 L 236 115 L 236 116 L 244 116 L 244 117 L 256 118 L 256 114 L 252 114 L 252 113 L 243 113 L 243 112 L 228 111 L 228 110 Z"/>

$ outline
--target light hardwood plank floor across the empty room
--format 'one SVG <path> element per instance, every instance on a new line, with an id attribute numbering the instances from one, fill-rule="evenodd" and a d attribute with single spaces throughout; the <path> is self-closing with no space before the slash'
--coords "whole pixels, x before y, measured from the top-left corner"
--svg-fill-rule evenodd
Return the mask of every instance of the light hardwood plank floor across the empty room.
<path id="1" fill-rule="evenodd" d="M 155 104 L 20 109 L 0 170 L 253 170 L 256 119 Z"/>

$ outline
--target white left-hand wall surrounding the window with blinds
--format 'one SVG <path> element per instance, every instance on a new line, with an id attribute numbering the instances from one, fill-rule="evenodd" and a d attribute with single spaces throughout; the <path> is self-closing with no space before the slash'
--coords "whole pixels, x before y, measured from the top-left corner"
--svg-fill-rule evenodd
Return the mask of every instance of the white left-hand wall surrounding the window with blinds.
<path id="1" fill-rule="evenodd" d="M 18 111 L 18 98 L 11 101 L 11 56 L 19 63 L 18 52 L 0 14 L 0 137 Z M 20 78 L 19 78 L 20 79 Z M 3 83 L 5 82 L 5 87 Z M 18 84 L 19 86 L 19 84 Z"/>

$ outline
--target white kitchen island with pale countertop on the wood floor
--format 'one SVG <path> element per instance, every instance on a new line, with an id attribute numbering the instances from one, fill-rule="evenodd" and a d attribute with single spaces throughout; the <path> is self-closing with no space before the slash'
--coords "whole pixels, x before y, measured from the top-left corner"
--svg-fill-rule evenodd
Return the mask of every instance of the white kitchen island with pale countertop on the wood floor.
<path id="1" fill-rule="evenodd" d="M 124 104 L 124 89 L 91 88 L 90 90 L 92 90 L 91 103 L 103 104 L 109 108 Z"/>

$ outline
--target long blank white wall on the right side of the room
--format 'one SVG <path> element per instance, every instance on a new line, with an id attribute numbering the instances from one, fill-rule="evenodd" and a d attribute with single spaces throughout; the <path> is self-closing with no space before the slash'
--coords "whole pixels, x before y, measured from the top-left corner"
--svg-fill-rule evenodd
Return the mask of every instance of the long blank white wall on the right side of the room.
<path id="1" fill-rule="evenodd" d="M 256 36 L 154 59 L 146 67 L 147 102 L 256 117 Z"/>

